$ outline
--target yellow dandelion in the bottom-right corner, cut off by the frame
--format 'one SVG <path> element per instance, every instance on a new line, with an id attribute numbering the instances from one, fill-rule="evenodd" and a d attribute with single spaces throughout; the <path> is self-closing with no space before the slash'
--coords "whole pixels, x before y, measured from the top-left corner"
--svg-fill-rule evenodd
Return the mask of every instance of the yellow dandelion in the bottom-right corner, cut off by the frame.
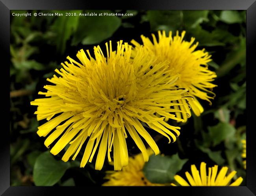
<path id="1" fill-rule="evenodd" d="M 222 167 L 217 175 L 218 165 L 214 165 L 214 167 L 208 168 L 207 175 L 206 163 L 202 162 L 200 165 L 200 174 L 195 165 L 191 165 L 192 176 L 189 172 L 185 172 L 189 183 L 179 175 L 175 175 L 174 179 L 181 186 L 239 186 L 243 178 L 239 177 L 230 184 L 230 181 L 236 175 L 236 171 L 232 171 L 226 176 L 227 171 L 228 167 Z M 174 183 L 171 183 L 171 185 L 176 186 Z"/>

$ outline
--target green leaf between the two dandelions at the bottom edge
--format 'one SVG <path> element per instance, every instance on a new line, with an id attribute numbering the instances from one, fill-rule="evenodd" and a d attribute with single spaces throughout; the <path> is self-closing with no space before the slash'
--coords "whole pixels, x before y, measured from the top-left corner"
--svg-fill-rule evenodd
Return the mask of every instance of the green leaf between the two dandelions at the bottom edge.
<path id="1" fill-rule="evenodd" d="M 180 159 L 178 153 L 173 156 L 150 156 L 143 168 L 145 177 L 152 183 L 170 183 L 188 159 Z"/>

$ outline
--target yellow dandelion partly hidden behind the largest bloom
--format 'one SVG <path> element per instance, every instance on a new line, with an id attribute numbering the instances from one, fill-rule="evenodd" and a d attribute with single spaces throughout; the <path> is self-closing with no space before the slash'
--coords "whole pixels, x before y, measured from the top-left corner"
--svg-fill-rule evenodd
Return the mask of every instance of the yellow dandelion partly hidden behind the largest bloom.
<path id="1" fill-rule="evenodd" d="M 143 35 L 141 35 L 141 39 L 143 46 L 157 58 L 156 63 L 168 60 L 171 75 L 179 74 L 177 85 L 180 88 L 189 90 L 186 94 L 193 96 L 193 98 L 188 99 L 189 105 L 195 115 L 200 116 L 204 109 L 197 98 L 207 100 L 211 104 L 210 99 L 213 99 L 215 96 L 211 90 L 213 87 L 216 87 L 216 85 L 211 82 L 216 77 L 216 74 L 208 69 L 207 63 L 211 61 L 211 55 L 205 52 L 204 49 L 195 50 L 198 45 L 198 42 L 193 44 L 195 38 L 191 38 L 190 42 L 183 40 L 185 33 L 186 32 L 183 31 L 181 36 L 179 36 L 177 31 L 176 36 L 172 37 L 171 31 L 169 32 L 169 36 L 165 35 L 165 31 L 162 33 L 158 31 L 158 41 L 154 34 L 152 34 L 153 42 Z M 136 55 L 137 49 L 139 49 L 141 45 L 135 40 L 132 40 L 131 43 L 135 46 L 132 55 Z M 213 96 L 209 96 L 208 93 L 213 94 Z M 184 104 L 174 106 L 174 108 L 180 108 L 189 114 L 176 114 L 178 118 L 183 118 L 186 121 L 187 118 L 191 116 L 190 107 L 186 105 L 185 100 L 173 102 Z"/>

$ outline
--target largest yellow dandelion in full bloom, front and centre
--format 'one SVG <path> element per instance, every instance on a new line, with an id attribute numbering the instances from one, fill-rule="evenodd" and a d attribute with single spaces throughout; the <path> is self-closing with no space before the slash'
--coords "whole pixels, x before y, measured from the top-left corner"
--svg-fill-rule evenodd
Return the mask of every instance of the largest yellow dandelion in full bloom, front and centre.
<path id="1" fill-rule="evenodd" d="M 95 169 L 100 170 L 106 153 L 111 162 L 113 147 L 114 169 L 121 170 L 128 164 L 127 132 L 145 161 L 148 161 L 148 154 L 141 137 L 155 154 L 159 153 L 156 142 L 142 122 L 166 136 L 169 143 L 171 138 L 175 142 L 180 127 L 169 125 L 163 118 L 182 120 L 171 114 L 182 111 L 170 107 L 179 105 L 171 101 L 180 100 L 186 90 L 177 89 L 177 76 L 170 77 L 166 62 L 150 69 L 154 58 L 148 58 L 149 54 L 143 48 L 132 60 L 132 46 L 122 44 L 122 41 L 117 42 L 116 51 L 112 51 L 111 42 L 109 46 L 106 43 L 106 51 L 107 57 L 99 46 L 94 47 L 93 58 L 88 50 L 87 54 L 80 50 L 76 55 L 80 62 L 68 56 L 69 62 L 55 70 L 60 76 L 47 79 L 53 85 L 44 86 L 46 93 L 39 92 L 46 98 L 36 99 L 31 105 L 38 106 L 37 120 L 48 121 L 37 131 L 39 136 L 48 136 L 46 147 L 60 137 L 50 150 L 52 154 L 58 154 L 70 144 L 62 160 L 67 162 L 73 154 L 74 160 L 82 145 L 87 143 L 80 165 L 84 167 L 92 161 L 99 146 Z M 164 117 L 158 118 L 156 113 Z"/>

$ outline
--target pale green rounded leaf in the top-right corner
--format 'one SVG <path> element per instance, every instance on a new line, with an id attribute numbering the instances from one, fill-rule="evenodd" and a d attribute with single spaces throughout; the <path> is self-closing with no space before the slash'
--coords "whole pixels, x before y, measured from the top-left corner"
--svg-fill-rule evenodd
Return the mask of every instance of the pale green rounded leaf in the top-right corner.
<path id="1" fill-rule="evenodd" d="M 221 12 L 220 20 L 227 24 L 241 23 L 243 18 L 236 10 L 224 10 Z"/>

